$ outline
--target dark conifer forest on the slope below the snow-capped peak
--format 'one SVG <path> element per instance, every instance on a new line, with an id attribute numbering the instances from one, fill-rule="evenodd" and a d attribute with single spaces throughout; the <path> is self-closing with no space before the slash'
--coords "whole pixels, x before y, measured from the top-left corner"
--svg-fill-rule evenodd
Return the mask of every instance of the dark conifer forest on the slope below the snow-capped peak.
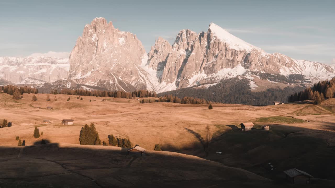
<path id="1" fill-rule="evenodd" d="M 208 88 L 183 88 L 158 93 L 158 96 L 194 97 L 207 102 L 246 105 L 271 105 L 273 101 L 288 102 L 288 96 L 305 89 L 304 86 L 269 88 L 266 91 L 253 92 L 246 78 L 230 78 Z M 210 102 L 209 102 L 210 103 Z"/>

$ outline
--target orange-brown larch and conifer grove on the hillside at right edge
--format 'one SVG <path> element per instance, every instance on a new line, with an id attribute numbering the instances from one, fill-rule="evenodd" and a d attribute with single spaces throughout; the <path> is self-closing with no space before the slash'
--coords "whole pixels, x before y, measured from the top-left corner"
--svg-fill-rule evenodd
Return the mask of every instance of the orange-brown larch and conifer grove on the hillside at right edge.
<path id="1" fill-rule="evenodd" d="M 312 100 L 319 105 L 322 101 L 333 98 L 335 92 L 335 78 L 315 83 L 313 87 L 306 88 L 304 91 L 295 92 L 289 96 L 289 101 Z"/>

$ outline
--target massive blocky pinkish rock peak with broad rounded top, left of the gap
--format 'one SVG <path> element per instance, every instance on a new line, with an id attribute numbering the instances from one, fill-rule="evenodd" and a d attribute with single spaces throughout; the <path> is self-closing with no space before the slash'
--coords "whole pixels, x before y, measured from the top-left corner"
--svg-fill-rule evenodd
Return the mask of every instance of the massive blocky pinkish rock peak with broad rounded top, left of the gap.
<path id="1" fill-rule="evenodd" d="M 85 25 L 71 52 L 68 79 L 109 90 L 152 90 L 154 75 L 142 67 L 146 60 L 136 35 L 120 31 L 105 18 L 95 18 Z"/>

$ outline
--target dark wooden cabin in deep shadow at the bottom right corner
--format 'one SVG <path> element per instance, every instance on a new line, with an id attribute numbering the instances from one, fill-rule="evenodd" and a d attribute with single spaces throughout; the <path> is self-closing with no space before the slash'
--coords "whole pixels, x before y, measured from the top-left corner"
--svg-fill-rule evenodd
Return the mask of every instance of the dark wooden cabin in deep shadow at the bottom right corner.
<path id="1" fill-rule="evenodd" d="M 286 174 L 286 179 L 293 184 L 310 184 L 311 178 L 313 178 L 308 173 L 296 168 L 286 170 L 284 173 Z"/>

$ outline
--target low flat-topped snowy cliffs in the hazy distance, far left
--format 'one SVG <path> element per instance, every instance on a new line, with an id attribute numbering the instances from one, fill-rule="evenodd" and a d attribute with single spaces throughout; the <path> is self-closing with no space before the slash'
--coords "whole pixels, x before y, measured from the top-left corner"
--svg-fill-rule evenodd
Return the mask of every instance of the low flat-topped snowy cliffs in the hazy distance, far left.
<path id="1" fill-rule="evenodd" d="M 15 84 L 28 78 L 54 82 L 67 77 L 68 58 L 52 57 L 0 57 L 0 78 Z"/>

